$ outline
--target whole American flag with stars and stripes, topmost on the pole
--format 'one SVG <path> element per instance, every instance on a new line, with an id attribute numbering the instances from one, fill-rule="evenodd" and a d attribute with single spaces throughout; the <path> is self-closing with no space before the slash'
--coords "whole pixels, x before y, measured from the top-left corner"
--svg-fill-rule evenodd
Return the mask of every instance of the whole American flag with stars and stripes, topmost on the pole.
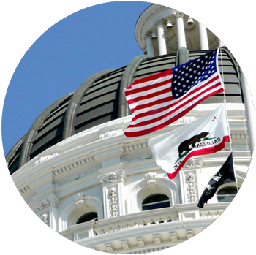
<path id="1" fill-rule="evenodd" d="M 181 118 L 204 99 L 224 91 L 219 49 L 173 69 L 159 72 L 124 89 L 132 121 L 124 134 L 138 137 L 162 129 Z"/>

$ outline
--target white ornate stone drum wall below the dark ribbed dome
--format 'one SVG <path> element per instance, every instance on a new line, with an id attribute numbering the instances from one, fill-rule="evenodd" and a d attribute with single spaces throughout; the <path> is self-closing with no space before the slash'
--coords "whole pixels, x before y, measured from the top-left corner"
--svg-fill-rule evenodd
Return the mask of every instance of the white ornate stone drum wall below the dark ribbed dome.
<path id="1" fill-rule="evenodd" d="M 197 208 L 208 180 L 230 148 L 189 159 L 170 180 L 155 163 L 148 139 L 216 107 L 199 104 L 176 123 L 144 137 L 123 134 L 131 116 L 95 126 L 40 153 L 12 178 L 42 221 L 82 246 L 115 254 L 144 254 L 175 246 L 201 232 L 229 205 L 215 196 L 203 209 Z M 227 104 L 227 114 L 240 187 L 251 161 L 244 104 Z M 170 208 L 143 211 L 143 199 L 151 194 L 165 194 Z M 97 212 L 98 221 L 76 224 L 89 212 Z"/>

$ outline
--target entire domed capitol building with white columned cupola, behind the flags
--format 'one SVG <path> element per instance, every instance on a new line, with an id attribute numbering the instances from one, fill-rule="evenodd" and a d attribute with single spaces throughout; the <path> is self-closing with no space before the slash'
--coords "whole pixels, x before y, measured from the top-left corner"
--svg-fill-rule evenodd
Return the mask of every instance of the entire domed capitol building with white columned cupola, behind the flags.
<path id="1" fill-rule="evenodd" d="M 197 20 L 152 4 L 138 18 L 143 54 L 127 66 L 87 78 L 75 92 L 46 108 L 7 154 L 12 178 L 32 210 L 67 239 L 98 251 L 145 254 L 176 246 L 218 218 L 241 187 L 255 130 L 252 97 L 227 47 Z M 124 88 L 219 47 L 225 84 L 175 123 L 127 138 L 131 121 Z M 157 166 L 148 139 L 192 123 L 226 100 L 232 144 L 189 159 L 170 180 Z M 233 149 L 237 183 L 220 186 L 197 207 L 211 176 Z"/>

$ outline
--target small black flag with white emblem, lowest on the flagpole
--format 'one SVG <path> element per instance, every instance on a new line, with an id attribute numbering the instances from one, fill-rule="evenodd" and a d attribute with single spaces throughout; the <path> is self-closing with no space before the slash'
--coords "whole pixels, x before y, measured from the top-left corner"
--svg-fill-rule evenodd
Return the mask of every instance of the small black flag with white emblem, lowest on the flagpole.
<path id="1" fill-rule="evenodd" d="M 233 153 L 231 152 L 230 156 L 228 156 L 227 160 L 222 165 L 220 170 L 209 181 L 206 189 L 203 191 L 203 194 L 199 199 L 197 207 L 203 208 L 203 205 L 205 203 L 207 204 L 207 201 L 214 197 L 214 194 L 219 188 L 219 186 L 234 181 L 236 181 L 236 178 L 233 167 Z"/>

